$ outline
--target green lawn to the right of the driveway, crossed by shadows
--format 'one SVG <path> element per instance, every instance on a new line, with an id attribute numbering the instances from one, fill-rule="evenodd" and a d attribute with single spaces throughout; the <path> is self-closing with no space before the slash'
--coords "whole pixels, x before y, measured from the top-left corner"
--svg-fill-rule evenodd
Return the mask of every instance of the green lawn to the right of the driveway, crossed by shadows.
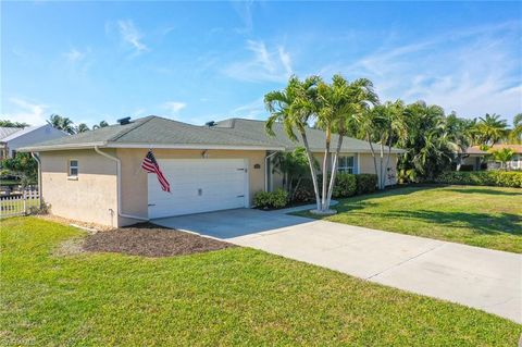
<path id="1" fill-rule="evenodd" d="M 343 199 L 335 209 L 339 213 L 324 219 L 522 253 L 519 188 L 407 187 Z"/>

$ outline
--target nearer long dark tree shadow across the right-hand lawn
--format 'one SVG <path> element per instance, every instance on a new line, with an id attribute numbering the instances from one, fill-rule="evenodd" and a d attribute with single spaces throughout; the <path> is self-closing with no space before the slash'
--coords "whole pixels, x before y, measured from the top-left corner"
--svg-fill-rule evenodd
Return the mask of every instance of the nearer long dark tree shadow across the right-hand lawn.
<path id="1" fill-rule="evenodd" d="M 469 228 L 477 234 L 522 236 L 522 216 L 513 213 L 490 214 L 419 210 L 371 212 L 370 214 L 382 219 L 423 221 L 452 228 Z"/>

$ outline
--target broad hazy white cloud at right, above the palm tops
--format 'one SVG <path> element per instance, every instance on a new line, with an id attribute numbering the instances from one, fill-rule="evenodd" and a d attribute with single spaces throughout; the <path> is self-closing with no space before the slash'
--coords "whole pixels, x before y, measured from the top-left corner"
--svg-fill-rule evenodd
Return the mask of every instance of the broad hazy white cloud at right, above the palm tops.
<path id="1" fill-rule="evenodd" d="M 436 103 L 447 112 L 507 119 L 522 110 L 522 54 L 512 45 L 520 24 L 453 30 L 451 35 L 397 47 L 382 47 L 352 64 L 323 69 L 349 78 L 368 77 L 383 100 Z"/>

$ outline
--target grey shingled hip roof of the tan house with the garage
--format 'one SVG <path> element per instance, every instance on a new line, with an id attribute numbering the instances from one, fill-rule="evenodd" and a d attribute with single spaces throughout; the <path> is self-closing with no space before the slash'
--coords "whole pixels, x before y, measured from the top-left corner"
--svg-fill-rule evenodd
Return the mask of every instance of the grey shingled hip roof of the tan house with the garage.
<path id="1" fill-rule="evenodd" d="M 163 147 L 163 148 L 245 148 L 284 150 L 300 146 L 285 135 L 281 124 L 275 124 L 275 137 L 268 136 L 264 122 L 231 119 L 214 126 L 199 126 L 150 115 L 125 125 L 110 125 L 63 138 L 45 141 L 21 150 L 51 150 L 87 147 Z M 324 149 L 324 133 L 308 128 L 310 147 Z M 336 144 L 334 136 L 332 149 Z M 344 151 L 369 151 L 368 142 L 345 137 Z M 393 152 L 402 152 L 393 149 Z"/>

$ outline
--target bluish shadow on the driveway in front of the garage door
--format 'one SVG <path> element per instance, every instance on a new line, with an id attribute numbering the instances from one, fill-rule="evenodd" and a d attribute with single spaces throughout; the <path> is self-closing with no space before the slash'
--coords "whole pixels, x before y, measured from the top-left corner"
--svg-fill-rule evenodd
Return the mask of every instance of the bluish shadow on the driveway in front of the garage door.
<path id="1" fill-rule="evenodd" d="M 314 222 L 311 219 L 286 214 L 288 212 L 235 209 L 162 218 L 150 222 L 222 239 Z"/>

